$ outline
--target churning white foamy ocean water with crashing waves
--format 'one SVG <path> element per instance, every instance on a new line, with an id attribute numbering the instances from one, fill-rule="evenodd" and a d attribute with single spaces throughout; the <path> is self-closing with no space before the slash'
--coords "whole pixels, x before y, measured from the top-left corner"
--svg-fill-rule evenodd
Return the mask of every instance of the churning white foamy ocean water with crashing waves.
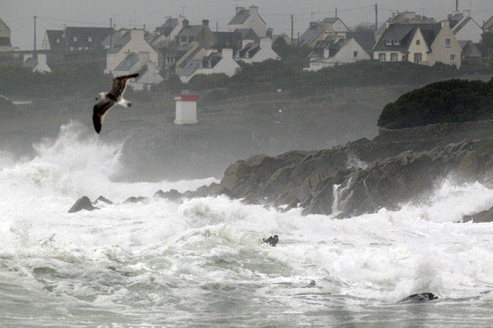
<path id="1" fill-rule="evenodd" d="M 454 223 L 493 205 L 479 183 L 348 220 L 224 197 L 121 204 L 216 179 L 114 183 L 121 145 L 84 129 L 35 158 L 0 151 L 0 327 L 493 324 L 493 224 Z M 118 204 L 69 214 L 82 195 Z M 439 299 L 398 302 L 421 292 Z"/>

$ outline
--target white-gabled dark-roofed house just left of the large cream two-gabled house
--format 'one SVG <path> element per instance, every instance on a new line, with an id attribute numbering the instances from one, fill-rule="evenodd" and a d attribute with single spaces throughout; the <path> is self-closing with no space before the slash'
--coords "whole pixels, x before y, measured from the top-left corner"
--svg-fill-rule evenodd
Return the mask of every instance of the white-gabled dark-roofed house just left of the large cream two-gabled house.
<path id="1" fill-rule="evenodd" d="M 371 57 L 364 51 L 359 43 L 351 39 L 339 39 L 338 41 L 319 41 L 312 54 L 313 60 L 304 71 L 318 71 L 320 68 L 332 67 L 344 63 L 355 63 Z M 318 58 L 317 58 L 318 57 Z"/>

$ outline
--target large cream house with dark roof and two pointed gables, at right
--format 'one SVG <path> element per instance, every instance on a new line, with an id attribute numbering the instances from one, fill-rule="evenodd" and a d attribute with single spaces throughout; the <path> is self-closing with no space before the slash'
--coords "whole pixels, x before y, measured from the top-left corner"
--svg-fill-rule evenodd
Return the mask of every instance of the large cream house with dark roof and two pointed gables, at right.
<path id="1" fill-rule="evenodd" d="M 462 48 L 449 27 L 439 24 L 391 24 L 374 46 L 379 61 L 411 61 L 433 66 L 441 62 L 461 66 Z"/>

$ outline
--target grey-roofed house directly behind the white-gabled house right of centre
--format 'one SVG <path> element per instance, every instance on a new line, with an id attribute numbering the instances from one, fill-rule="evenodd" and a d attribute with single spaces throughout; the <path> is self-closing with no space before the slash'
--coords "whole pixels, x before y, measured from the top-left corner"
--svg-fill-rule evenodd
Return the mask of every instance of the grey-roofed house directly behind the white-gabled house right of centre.
<path id="1" fill-rule="evenodd" d="M 350 32 L 349 28 L 337 17 L 329 17 L 322 21 L 312 21 L 307 31 L 304 31 L 302 36 L 299 37 L 298 45 L 313 48 L 317 41 L 346 32 Z"/>

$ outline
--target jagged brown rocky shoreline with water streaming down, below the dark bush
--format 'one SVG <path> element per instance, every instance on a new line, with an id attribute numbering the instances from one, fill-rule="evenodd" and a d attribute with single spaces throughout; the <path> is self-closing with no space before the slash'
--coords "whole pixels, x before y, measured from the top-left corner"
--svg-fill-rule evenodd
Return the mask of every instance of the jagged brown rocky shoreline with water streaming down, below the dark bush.
<path id="1" fill-rule="evenodd" d="M 154 198 L 181 201 L 226 195 L 247 204 L 284 211 L 302 207 L 306 215 L 347 218 L 422 200 L 447 177 L 493 186 L 493 122 L 460 124 L 429 125 L 427 133 L 423 128 L 415 128 L 414 134 L 406 129 L 403 138 L 398 130 L 392 131 L 393 138 L 382 131 L 373 140 L 362 138 L 328 150 L 254 155 L 229 165 L 219 184 L 183 194 L 159 190 Z M 452 128 L 444 133 L 447 126 Z M 429 138 L 433 129 L 440 131 L 437 138 Z M 471 220 L 492 221 L 493 210 L 464 217 L 464 222 Z"/>

